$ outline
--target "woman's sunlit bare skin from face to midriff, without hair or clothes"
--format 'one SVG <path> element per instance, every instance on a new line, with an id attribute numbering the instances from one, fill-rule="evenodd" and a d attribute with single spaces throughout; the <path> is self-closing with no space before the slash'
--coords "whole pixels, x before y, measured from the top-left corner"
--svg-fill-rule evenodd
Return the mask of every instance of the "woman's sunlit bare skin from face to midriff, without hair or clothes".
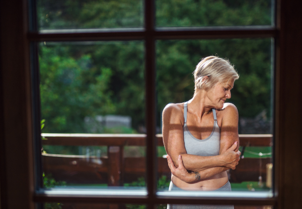
<path id="1" fill-rule="evenodd" d="M 203 81 L 208 79 L 207 76 Z M 217 83 L 211 89 L 196 89 L 188 101 L 187 126 L 197 139 L 209 137 L 213 128 L 212 108 L 216 109 L 220 128 L 218 156 L 187 154 L 183 140 L 183 105 L 168 104 L 163 111 L 163 139 L 168 164 L 175 185 L 186 190 L 213 190 L 228 181 L 226 170 L 235 169 L 240 160 L 238 111 L 234 104 L 224 103 L 231 98 L 234 80 Z M 197 124 L 197 126 L 196 126 Z M 207 183 L 208 182 L 208 183 Z M 218 183 L 216 183 L 218 182 Z M 223 183 L 224 182 L 224 183 Z"/>

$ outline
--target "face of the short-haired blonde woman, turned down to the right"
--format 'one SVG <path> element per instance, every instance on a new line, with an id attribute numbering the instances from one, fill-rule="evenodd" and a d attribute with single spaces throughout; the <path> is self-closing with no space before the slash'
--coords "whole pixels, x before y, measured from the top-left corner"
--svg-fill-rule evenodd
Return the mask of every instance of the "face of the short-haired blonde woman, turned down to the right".
<path id="1" fill-rule="evenodd" d="M 231 98 L 231 89 L 234 86 L 234 79 L 215 84 L 215 86 L 207 91 L 209 99 L 208 105 L 215 108 L 223 108 L 223 103 L 227 98 Z"/>

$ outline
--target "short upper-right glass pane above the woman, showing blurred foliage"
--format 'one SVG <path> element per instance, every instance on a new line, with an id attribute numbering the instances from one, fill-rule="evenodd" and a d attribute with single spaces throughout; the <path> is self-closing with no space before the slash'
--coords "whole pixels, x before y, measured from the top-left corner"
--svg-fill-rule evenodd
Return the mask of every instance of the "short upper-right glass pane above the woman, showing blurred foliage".
<path id="1" fill-rule="evenodd" d="M 272 1 L 156 1 L 157 27 L 256 26 L 272 24 Z"/>

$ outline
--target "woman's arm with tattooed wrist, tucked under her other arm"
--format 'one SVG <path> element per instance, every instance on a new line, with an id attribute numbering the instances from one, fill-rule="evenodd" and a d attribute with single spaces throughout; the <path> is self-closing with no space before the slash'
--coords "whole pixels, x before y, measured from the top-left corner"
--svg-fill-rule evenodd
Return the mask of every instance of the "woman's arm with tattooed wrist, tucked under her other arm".
<path id="1" fill-rule="evenodd" d="M 236 146 L 235 146 L 236 144 Z M 240 156 L 239 148 L 239 135 L 238 135 L 238 111 L 234 104 L 229 103 L 227 107 L 223 110 L 222 125 L 220 129 L 220 151 L 219 154 L 225 153 L 228 149 L 232 149 L 238 153 Z M 228 167 L 213 167 L 201 171 L 194 171 L 189 173 L 183 166 L 181 156 L 178 157 L 178 168 L 173 164 L 170 156 L 168 158 L 168 165 L 171 169 L 173 175 L 179 179 L 187 182 L 194 183 L 198 180 L 203 180 L 210 178 L 218 173 L 229 170 Z M 239 161 L 239 158 L 238 158 Z M 237 163 L 238 164 L 238 163 Z M 234 168 L 235 169 L 235 168 Z"/>

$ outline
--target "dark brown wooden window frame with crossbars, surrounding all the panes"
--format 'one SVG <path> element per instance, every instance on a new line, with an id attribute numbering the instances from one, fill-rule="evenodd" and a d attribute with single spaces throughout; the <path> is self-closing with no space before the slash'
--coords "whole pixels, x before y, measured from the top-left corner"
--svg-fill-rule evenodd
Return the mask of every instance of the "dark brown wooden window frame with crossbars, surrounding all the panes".
<path id="1" fill-rule="evenodd" d="M 145 28 L 121 29 L 119 32 L 38 33 L 34 24 L 35 2 L 27 0 L 1 1 L 1 71 L 0 71 L 0 195 L 1 208 L 34 208 L 36 202 L 139 203 L 153 208 L 159 203 L 274 205 L 277 208 L 300 208 L 302 148 L 302 114 L 299 112 L 301 89 L 299 60 L 302 57 L 302 5 L 295 1 L 276 1 L 276 25 L 273 27 L 211 27 L 160 28 L 154 25 L 154 1 L 144 0 Z M 31 18 L 33 17 L 33 18 Z M 28 20 L 31 21 L 28 21 Z M 30 23 L 30 24 L 29 24 Z M 31 28 L 31 30 L 29 30 Z M 274 197 L 272 198 L 160 198 L 156 195 L 156 92 L 155 41 L 158 39 L 275 39 L 274 70 Z M 37 67 L 38 41 L 144 40 L 145 92 L 147 131 L 147 197 L 120 196 L 74 197 L 72 195 L 40 195 L 35 179 L 35 143 L 37 123 L 37 77 L 31 68 Z M 290 71 L 288 70 L 290 69 Z M 33 82 L 32 82 L 33 81 Z M 39 100 L 39 99 L 38 99 Z M 201 201 L 202 200 L 202 201 Z"/>

